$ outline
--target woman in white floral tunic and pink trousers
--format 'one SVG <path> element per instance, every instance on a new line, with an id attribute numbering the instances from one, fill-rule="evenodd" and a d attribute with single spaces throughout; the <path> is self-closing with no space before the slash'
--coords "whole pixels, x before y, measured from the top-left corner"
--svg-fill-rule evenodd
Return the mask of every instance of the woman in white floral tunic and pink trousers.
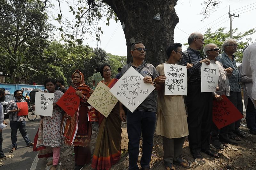
<path id="1" fill-rule="evenodd" d="M 39 151 L 38 158 L 50 157 L 53 160 L 47 165 L 52 165 L 50 170 L 56 170 L 60 159 L 61 145 L 61 111 L 62 109 L 56 104 L 61 98 L 63 92 L 55 90 L 56 82 L 54 79 L 46 79 L 44 87 L 49 93 L 54 93 L 52 116 L 41 116 L 38 133 L 35 137 L 36 146 L 34 151 Z M 35 107 L 34 107 L 35 108 Z"/>

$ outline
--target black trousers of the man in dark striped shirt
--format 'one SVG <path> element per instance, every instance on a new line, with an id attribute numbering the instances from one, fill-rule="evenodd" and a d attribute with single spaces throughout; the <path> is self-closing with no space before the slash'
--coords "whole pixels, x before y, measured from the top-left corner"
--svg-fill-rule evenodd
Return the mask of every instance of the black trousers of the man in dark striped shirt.
<path id="1" fill-rule="evenodd" d="M 210 149 L 212 92 L 201 92 L 201 82 L 188 83 L 188 142 L 192 156 Z"/>

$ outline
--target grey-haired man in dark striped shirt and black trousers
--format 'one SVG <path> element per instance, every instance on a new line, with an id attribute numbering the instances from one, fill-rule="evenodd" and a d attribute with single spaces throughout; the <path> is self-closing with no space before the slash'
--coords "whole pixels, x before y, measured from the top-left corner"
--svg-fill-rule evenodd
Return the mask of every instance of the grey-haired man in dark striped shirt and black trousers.
<path id="1" fill-rule="evenodd" d="M 188 142 L 189 149 L 194 159 L 203 164 L 205 160 L 201 151 L 218 157 L 210 150 L 210 133 L 212 127 L 212 92 L 201 92 L 201 65 L 210 64 L 210 60 L 201 59 L 198 50 L 203 48 L 204 36 L 201 33 L 192 33 L 188 37 L 189 48 L 183 52 L 182 65 L 192 63 L 188 69 L 188 95 L 186 105 L 188 107 Z"/>

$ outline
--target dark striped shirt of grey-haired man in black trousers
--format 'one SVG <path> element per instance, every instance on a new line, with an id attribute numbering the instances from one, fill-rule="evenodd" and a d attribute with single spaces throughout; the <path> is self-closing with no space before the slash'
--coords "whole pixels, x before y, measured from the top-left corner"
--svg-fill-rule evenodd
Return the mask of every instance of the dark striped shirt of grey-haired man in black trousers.
<path id="1" fill-rule="evenodd" d="M 201 57 L 199 56 L 200 52 L 192 48 L 188 48 L 183 51 L 183 57 L 181 65 L 186 66 L 187 63 L 192 63 L 193 66 L 188 70 L 188 76 L 190 76 L 188 82 L 201 81 Z"/>

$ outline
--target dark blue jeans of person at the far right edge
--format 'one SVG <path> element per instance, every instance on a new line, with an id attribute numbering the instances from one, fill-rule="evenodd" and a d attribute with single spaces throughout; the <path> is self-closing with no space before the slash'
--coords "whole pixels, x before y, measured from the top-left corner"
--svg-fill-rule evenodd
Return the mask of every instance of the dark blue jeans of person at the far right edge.
<path id="1" fill-rule="evenodd" d="M 248 98 L 248 104 L 246 109 L 246 124 L 247 127 L 250 129 L 249 131 L 256 130 L 256 109 L 252 103 L 252 100 Z"/>

